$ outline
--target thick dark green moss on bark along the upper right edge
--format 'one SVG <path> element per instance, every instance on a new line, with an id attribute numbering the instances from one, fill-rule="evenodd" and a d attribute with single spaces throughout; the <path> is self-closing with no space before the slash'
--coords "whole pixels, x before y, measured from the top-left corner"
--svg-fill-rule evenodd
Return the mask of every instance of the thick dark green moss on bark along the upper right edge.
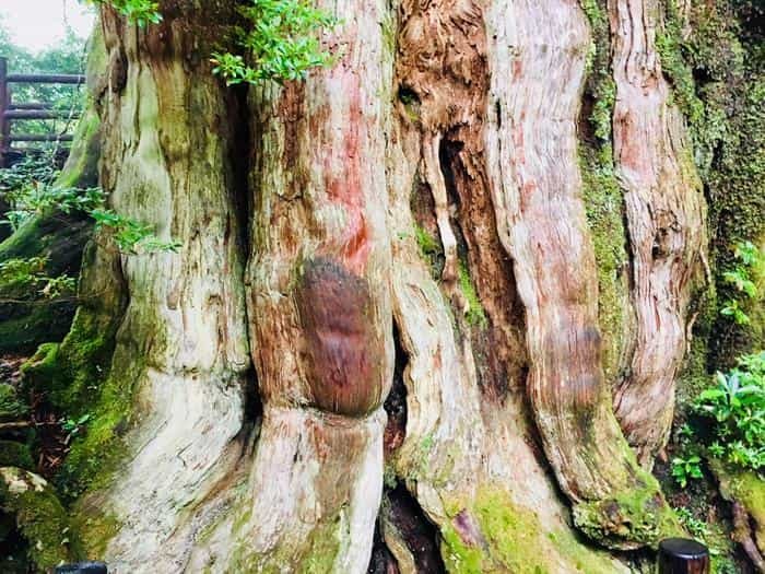
<path id="1" fill-rule="evenodd" d="M 737 293 L 722 273 L 733 265 L 737 242 L 765 242 L 765 58 L 750 34 L 746 3 L 695 3 L 691 34 L 675 0 L 664 0 L 664 27 L 657 37 L 662 70 L 684 112 L 694 142 L 694 159 L 709 203 L 710 268 L 717 304 Z M 756 36 L 756 34 L 755 34 Z M 765 344 L 763 302 L 750 309 L 750 326 L 716 317 L 708 339 L 708 371 L 726 368 L 735 358 Z M 697 324 L 698 325 L 698 324 Z"/>

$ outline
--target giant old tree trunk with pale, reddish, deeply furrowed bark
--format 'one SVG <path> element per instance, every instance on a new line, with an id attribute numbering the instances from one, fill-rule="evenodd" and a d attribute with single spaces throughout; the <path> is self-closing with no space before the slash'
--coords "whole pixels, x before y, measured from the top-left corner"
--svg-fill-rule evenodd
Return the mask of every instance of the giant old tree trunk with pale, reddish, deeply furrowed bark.
<path id="1" fill-rule="evenodd" d="M 236 4 L 161 2 L 146 28 L 104 9 L 102 185 L 181 247 L 126 256 L 102 233 L 86 258 L 104 296 L 64 341 L 105 373 L 64 469 L 86 552 L 115 572 L 589 573 L 626 571 L 596 544 L 681 532 L 647 470 L 707 231 L 656 2 L 609 2 L 603 45 L 570 0 L 321 1 L 338 60 L 249 93 L 209 62 Z M 593 47 L 631 256 L 608 328 L 580 161 Z"/>

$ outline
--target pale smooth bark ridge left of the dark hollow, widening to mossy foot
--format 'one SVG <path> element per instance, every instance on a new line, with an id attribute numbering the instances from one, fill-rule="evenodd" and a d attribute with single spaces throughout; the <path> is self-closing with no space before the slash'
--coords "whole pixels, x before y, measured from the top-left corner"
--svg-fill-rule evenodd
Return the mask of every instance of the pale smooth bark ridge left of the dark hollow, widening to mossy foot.
<path id="1" fill-rule="evenodd" d="M 565 508 L 531 446 L 518 390 L 508 388 L 502 401 L 482 398 L 470 327 L 466 321 L 456 326 L 449 288 L 432 278 L 412 232 L 409 204 L 417 171 L 412 159 L 421 140 L 414 130 L 399 131 L 403 121 L 396 122 L 388 165 L 390 225 L 397 237 L 393 312 L 408 355 L 407 432 L 389 455 L 390 465 L 436 525 L 448 572 L 534 566 L 621 572 L 620 564 L 572 536 Z M 386 543 L 401 572 L 415 572 L 414 559 L 396 532 L 385 529 Z"/>

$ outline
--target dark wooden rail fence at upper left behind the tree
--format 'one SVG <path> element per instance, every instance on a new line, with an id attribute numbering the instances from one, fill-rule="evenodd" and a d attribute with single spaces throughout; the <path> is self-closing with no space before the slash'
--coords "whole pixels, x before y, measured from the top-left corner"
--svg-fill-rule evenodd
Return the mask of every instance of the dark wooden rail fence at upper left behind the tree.
<path id="1" fill-rule="evenodd" d="M 12 155 L 23 154 L 14 150 L 13 142 L 71 141 L 68 133 L 11 133 L 13 121 L 27 119 L 76 118 L 76 114 L 59 112 L 46 102 L 13 102 L 11 84 L 73 84 L 85 82 L 84 75 L 8 73 L 8 60 L 0 58 L 0 167 L 7 167 Z"/>

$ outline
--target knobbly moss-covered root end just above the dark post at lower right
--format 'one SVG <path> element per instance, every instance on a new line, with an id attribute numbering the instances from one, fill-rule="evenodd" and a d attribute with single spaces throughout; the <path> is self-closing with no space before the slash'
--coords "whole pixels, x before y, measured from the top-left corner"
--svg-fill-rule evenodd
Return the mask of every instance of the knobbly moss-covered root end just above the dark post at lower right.
<path id="1" fill-rule="evenodd" d="M 615 550 L 657 548 L 662 538 L 685 536 L 656 479 L 637 471 L 634 488 L 574 505 L 574 523 L 592 540 Z"/>

